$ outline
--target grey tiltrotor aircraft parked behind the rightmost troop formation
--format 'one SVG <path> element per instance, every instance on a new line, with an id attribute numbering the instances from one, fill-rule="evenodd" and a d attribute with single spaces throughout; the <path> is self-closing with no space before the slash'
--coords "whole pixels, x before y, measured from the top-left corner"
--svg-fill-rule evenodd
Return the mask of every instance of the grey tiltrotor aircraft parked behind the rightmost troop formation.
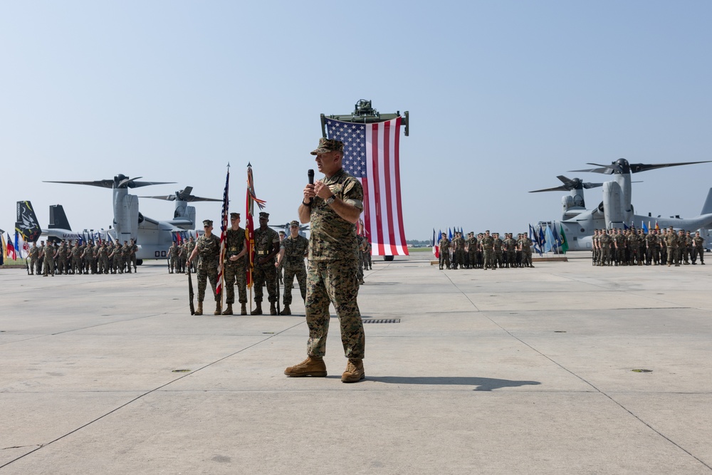
<path id="1" fill-rule="evenodd" d="M 559 231 L 563 229 L 566 234 L 567 244 L 572 251 L 590 251 L 592 249 L 591 236 L 595 229 L 624 229 L 625 226 L 641 226 L 654 219 L 661 229 L 673 226 L 674 229 L 709 229 L 712 227 L 712 189 L 707 195 L 706 202 L 700 216 L 689 219 L 679 217 L 663 218 L 641 216 L 634 213 L 631 202 L 631 174 L 645 172 L 646 170 L 676 167 L 679 165 L 694 165 L 706 162 L 679 162 L 649 165 L 644 163 L 629 163 L 621 158 L 611 165 L 595 165 L 597 168 L 572 170 L 572 172 L 591 172 L 612 174 L 613 179 L 604 183 L 587 183 L 581 179 L 557 177 L 563 183 L 559 187 L 537 189 L 530 193 L 552 192 L 557 190 L 570 191 L 570 195 L 562 197 L 563 214 L 560 221 L 541 221 L 542 225 L 553 225 Z M 585 209 L 583 190 L 594 187 L 603 187 L 603 201 L 594 209 Z"/>

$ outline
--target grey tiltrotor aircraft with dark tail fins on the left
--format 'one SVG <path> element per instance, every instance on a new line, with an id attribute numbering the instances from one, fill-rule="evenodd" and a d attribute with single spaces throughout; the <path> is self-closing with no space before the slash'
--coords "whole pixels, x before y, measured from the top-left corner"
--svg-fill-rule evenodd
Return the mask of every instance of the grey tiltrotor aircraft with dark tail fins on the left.
<path id="1" fill-rule="evenodd" d="M 188 202 L 219 202 L 220 199 L 196 197 L 190 194 L 192 187 L 186 187 L 172 195 L 155 196 L 147 198 L 167 199 L 175 201 L 175 211 L 173 219 L 166 221 L 158 221 L 144 216 L 138 210 L 138 198 L 135 195 L 129 194 L 129 188 L 146 187 L 152 184 L 169 184 L 173 182 L 138 182 L 141 177 L 129 178 L 123 174 L 117 174 L 113 179 L 103 179 L 94 182 L 48 182 L 48 183 L 69 183 L 69 184 L 85 184 L 93 187 L 111 188 L 113 192 L 113 209 L 114 219 L 112 229 L 102 231 L 102 234 L 109 234 L 111 239 L 119 242 L 133 239 L 138 246 L 136 261 L 138 264 L 143 259 L 166 259 L 166 251 L 173 243 L 174 233 L 188 231 L 187 234 L 195 236 L 195 207 L 188 206 Z M 36 216 L 34 213 L 25 212 L 21 217 L 21 207 L 18 204 L 18 223 L 21 224 L 27 221 L 34 224 L 34 229 L 23 231 L 26 235 L 35 235 L 34 241 L 39 234 L 36 229 L 39 228 Z M 31 208 L 30 208 L 31 210 Z M 31 223 L 31 221 L 34 221 Z M 22 224 L 24 227 L 26 226 Z M 20 226 L 18 226 L 21 229 Z M 68 229 L 47 229 L 41 230 L 41 234 L 46 236 L 57 236 L 63 231 L 65 234 L 72 236 L 74 233 Z M 68 237 L 68 239 L 73 239 Z M 31 240 L 31 239 L 28 239 Z"/>

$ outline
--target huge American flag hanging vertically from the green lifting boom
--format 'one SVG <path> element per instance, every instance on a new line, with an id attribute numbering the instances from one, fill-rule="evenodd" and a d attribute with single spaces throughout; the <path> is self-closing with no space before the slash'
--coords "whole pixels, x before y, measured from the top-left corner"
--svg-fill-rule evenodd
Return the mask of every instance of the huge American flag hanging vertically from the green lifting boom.
<path id="1" fill-rule="evenodd" d="M 364 231 L 374 256 L 407 256 L 400 192 L 401 118 L 357 124 L 326 120 L 330 139 L 344 142 L 344 169 L 363 186 Z"/>

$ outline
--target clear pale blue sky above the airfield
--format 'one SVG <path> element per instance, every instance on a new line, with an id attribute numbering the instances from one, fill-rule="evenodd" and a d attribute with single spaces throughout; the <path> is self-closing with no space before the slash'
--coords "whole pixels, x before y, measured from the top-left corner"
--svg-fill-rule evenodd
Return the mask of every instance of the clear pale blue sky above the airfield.
<path id="1" fill-rule="evenodd" d="M 108 228 L 123 173 L 220 198 L 246 165 L 271 223 L 295 219 L 319 114 L 409 110 L 408 239 L 560 218 L 556 175 L 587 162 L 712 160 L 710 1 L 33 1 L 0 6 L 0 228 Z M 712 164 L 635 174 L 640 214 L 699 214 Z M 587 192 L 590 207 L 600 188 Z M 173 205 L 142 199 L 155 219 Z M 219 204 L 197 204 L 216 219 Z"/>

